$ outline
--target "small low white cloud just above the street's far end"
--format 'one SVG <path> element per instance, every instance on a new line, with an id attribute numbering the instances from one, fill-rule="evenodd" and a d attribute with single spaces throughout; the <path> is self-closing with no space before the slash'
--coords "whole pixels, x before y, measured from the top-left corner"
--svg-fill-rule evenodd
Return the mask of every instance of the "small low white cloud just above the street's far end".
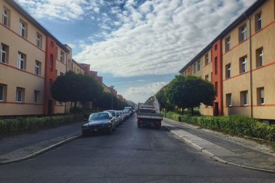
<path id="1" fill-rule="evenodd" d="M 165 86 L 166 82 L 154 82 L 145 84 L 142 86 L 128 88 L 122 95 L 135 103 L 144 102 L 148 97 L 151 97 L 157 93 L 159 89 Z"/>

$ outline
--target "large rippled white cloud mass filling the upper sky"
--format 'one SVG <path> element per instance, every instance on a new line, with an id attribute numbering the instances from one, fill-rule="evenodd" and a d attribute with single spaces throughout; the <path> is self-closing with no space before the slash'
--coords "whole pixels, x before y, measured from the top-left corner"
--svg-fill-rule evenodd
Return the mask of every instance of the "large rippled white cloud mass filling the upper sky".
<path id="1" fill-rule="evenodd" d="M 129 0 L 110 8 L 102 41 L 85 42 L 75 58 L 114 76 L 177 73 L 254 1 L 152 0 L 138 7 Z"/>

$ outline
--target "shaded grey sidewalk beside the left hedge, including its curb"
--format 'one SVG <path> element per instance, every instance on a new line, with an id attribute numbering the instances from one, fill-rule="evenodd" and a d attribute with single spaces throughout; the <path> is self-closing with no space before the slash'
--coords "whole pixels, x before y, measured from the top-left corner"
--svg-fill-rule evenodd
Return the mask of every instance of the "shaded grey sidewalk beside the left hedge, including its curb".
<path id="1" fill-rule="evenodd" d="M 36 133 L 0 136 L 0 164 L 33 158 L 78 138 L 82 123 L 70 123 Z"/>

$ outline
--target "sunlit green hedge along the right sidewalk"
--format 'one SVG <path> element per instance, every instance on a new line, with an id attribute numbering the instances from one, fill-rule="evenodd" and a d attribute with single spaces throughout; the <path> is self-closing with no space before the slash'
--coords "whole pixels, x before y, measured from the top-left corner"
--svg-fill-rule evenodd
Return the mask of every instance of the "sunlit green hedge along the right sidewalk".
<path id="1" fill-rule="evenodd" d="M 250 136 L 254 138 L 262 138 L 275 143 L 275 125 L 268 125 L 256 119 L 245 116 L 229 116 L 229 117 L 195 117 L 190 115 L 181 115 L 175 112 L 165 112 L 164 117 L 175 121 L 184 121 L 193 125 L 198 125 L 210 130 L 225 132 L 238 136 Z"/>

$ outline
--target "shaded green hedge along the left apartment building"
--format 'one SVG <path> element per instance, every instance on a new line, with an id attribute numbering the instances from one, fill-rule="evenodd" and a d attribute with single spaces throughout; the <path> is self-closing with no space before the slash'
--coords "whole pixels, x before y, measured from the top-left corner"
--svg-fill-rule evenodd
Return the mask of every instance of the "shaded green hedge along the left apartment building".
<path id="1" fill-rule="evenodd" d="M 23 132 L 30 130 L 36 131 L 43 127 L 55 127 L 65 123 L 82 120 L 83 115 L 0 119 L 0 134 L 9 132 Z"/>

